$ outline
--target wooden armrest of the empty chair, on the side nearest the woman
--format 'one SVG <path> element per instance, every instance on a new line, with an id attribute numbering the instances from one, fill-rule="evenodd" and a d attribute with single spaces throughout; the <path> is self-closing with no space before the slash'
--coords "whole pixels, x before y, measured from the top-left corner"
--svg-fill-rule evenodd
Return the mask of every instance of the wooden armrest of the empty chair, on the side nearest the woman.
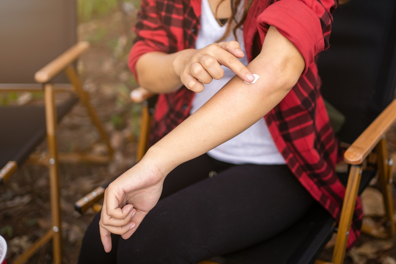
<path id="1" fill-rule="evenodd" d="M 70 65 L 72 62 L 89 48 L 87 41 L 81 41 L 75 44 L 73 47 L 65 51 L 54 61 L 44 66 L 42 69 L 36 72 L 34 78 L 39 83 L 45 83 L 54 78 L 60 71 Z"/>

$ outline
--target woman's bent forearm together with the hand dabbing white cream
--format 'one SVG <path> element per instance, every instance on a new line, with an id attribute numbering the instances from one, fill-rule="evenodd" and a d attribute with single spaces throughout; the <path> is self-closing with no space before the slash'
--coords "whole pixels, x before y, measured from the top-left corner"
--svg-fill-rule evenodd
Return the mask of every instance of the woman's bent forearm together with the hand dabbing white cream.
<path id="1" fill-rule="evenodd" d="M 173 54 L 149 52 L 136 63 L 139 84 L 157 93 L 171 92 L 184 84 L 194 92 L 201 92 L 204 84 L 224 75 L 221 65 L 230 68 L 247 82 L 254 77 L 238 58 L 244 56 L 239 43 L 213 43 L 205 48 L 186 49 Z"/>

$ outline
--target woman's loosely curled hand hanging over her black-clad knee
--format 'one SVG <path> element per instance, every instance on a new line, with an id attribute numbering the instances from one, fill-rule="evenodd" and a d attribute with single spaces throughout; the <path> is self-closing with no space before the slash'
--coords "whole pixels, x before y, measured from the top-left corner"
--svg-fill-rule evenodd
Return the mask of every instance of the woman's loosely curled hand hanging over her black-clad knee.
<path id="1" fill-rule="evenodd" d="M 143 161 L 143 162 L 142 162 Z M 106 252 L 112 250 L 110 234 L 129 238 L 157 204 L 165 179 L 153 163 L 142 160 L 106 189 L 99 229 Z"/>

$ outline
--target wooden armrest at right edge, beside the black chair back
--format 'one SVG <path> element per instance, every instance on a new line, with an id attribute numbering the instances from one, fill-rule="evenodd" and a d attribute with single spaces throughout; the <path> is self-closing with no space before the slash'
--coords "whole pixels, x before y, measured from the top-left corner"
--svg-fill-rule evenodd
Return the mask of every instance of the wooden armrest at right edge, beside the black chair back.
<path id="1" fill-rule="evenodd" d="M 359 165 L 388 132 L 396 120 L 396 99 L 360 134 L 344 153 L 344 161 Z"/>

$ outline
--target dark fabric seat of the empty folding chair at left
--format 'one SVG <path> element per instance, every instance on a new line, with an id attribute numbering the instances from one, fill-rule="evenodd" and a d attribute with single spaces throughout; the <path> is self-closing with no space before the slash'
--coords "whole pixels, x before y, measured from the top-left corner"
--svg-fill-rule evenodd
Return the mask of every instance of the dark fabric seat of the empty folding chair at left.
<path id="1" fill-rule="evenodd" d="M 57 120 L 78 101 L 75 96 L 57 105 Z M 20 166 L 46 135 L 43 106 L 0 107 L 0 168 L 8 161 Z"/>

